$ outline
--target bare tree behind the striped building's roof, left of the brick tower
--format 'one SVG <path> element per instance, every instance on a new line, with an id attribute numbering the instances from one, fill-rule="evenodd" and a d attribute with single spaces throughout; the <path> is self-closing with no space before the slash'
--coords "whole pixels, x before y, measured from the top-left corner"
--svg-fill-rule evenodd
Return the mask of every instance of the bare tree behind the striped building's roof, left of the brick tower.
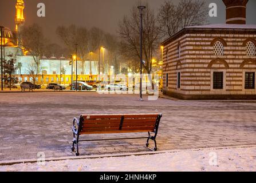
<path id="1" fill-rule="evenodd" d="M 160 7 L 158 19 L 164 37 L 171 37 L 184 27 L 206 23 L 206 1 L 181 0 L 178 5 L 171 0 L 166 1 Z"/>

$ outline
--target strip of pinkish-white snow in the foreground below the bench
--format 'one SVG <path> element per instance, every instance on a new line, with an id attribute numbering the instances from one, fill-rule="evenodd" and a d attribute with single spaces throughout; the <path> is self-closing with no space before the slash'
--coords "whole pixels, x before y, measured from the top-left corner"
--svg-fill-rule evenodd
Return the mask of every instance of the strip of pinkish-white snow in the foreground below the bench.
<path id="1" fill-rule="evenodd" d="M 256 171 L 256 146 L 17 164 L 0 171 Z"/>

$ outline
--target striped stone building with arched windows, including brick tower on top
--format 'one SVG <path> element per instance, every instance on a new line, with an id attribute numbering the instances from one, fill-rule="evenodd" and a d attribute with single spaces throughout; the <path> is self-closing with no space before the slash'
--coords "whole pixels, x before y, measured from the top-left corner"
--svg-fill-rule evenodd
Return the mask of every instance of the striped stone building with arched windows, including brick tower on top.
<path id="1" fill-rule="evenodd" d="M 163 93 L 194 99 L 256 98 L 256 25 L 247 1 L 223 1 L 226 24 L 185 27 L 162 43 Z"/>

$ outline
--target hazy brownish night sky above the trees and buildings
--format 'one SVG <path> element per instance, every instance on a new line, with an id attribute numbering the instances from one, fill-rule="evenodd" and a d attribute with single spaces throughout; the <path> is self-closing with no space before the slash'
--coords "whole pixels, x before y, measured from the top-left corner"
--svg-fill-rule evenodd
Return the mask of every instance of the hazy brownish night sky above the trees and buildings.
<path id="1" fill-rule="evenodd" d="M 0 0 L 0 24 L 14 30 L 15 0 Z M 147 0 L 156 12 L 166 0 Z M 178 3 L 179 0 L 173 0 Z M 37 17 L 37 3 L 46 6 L 46 17 Z M 56 27 L 75 24 L 100 27 L 112 34 L 117 34 L 118 22 L 137 0 L 25 0 L 26 24 L 38 23 L 44 28 L 46 37 L 52 42 L 59 42 L 56 37 Z M 225 5 L 220 0 L 207 0 L 207 6 L 215 2 L 218 5 L 218 17 L 208 19 L 208 23 L 225 23 Z M 256 24 L 256 1 L 247 4 L 247 23 Z"/>

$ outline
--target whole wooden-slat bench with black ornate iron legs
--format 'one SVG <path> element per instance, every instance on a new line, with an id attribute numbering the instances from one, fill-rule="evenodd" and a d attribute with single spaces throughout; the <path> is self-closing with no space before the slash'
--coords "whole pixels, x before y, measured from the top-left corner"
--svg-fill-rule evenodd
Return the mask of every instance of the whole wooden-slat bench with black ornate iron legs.
<path id="1" fill-rule="evenodd" d="M 154 150 L 157 150 L 156 136 L 162 114 L 103 114 L 103 115 L 81 115 L 80 119 L 73 120 L 73 145 L 72 152 L 74 152 L 74 144 L 76 144 L 76 156 L 79 156 L 78 143 L 81 141 L 101 141 L 101 140 L 127 140 L 137 138 L 147 138 L 155 142 Z M 135 138 L 112 138 L 101 140 L 80 140 L 80 136 L 84 134 L 110 134 L 110 133 L 139 133 L 148 132 L 147 137 Z M 154 133 L 151 136 L 150 133 Z"/>

